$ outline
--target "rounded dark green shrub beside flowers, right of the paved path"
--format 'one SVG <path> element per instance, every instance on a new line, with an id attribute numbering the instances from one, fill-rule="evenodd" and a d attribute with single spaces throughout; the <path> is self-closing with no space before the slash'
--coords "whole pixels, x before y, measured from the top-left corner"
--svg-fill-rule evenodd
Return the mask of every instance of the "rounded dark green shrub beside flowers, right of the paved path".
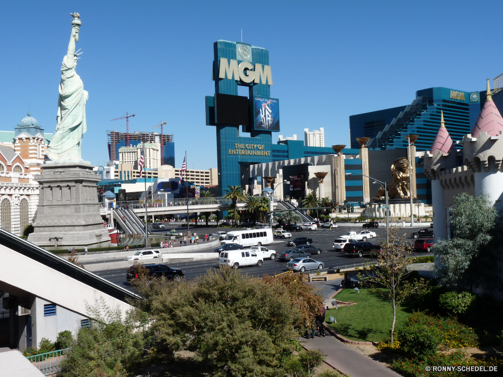
<path id="1" fill-rule="evenodd" d="M 421 358 L 436 353 L 442 343 L 439 329 L 422 323 L 408 324 L 400 329 L 399 338 L 403 351 Z"/>

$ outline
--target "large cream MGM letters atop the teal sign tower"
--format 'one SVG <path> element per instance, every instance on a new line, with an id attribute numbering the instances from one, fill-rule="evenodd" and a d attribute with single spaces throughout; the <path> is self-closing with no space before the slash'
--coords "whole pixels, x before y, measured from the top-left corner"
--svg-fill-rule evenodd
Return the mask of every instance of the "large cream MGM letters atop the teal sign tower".
<path id="1" fill-rule="evenodd" d="M 254 66 L 247 62 L 242 61 L 237 65 L 237 60 L 230 59 L 230 65 L 227 58 L 220 58 L 220 69 L 218 72 L 218 78 L 226 78 L 232 80 L 232 76 L 234 76 L 234 80 L 245 82 L 249 84 L 250 82 L 254 82 L 256 84 L 273 84 L 273 74 L 271 73 L 271 66 L 264 65 L 264 69 L 262 69 L 262 64 L 255 64 L 255 71 L 252 71 Z M 245 71 L 246 69 L 246 71 Z"/>

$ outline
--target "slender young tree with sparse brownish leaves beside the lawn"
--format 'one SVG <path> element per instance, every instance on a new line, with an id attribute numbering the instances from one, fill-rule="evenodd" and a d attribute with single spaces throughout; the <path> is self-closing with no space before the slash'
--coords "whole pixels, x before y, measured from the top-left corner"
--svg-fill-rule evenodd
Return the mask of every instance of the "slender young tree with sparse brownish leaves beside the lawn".
<path id="1" fill-rule="evenodd" d="M 407 280 L 407 265 L 412 263 L 412 258 L 407 257 L 412 252 L 412 245 L 398 237 L 398 228 L 389 228 L 388 238 L 388 242 L 380 242 L 382 254 L 377 254 L 376 263 L 366 266 L 369 272 L 365 275 L 359 273 L 358 277 L 369 292 L 382 296 L 390 303 L 393 310 L 390 337 L 393 343 L 396 309 L 405 297 L 426 292 L 427 282 L 424 279 Z"/>

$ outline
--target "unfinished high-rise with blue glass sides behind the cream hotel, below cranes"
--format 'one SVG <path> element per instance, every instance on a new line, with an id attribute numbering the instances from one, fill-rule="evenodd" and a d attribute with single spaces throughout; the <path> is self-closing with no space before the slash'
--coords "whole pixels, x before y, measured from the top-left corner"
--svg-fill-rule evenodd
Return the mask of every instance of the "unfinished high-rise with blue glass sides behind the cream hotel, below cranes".
<path id="1" fill-rule="evenodd" d="M 126 133 L 107 131 L 108 154 L 110 161 L 119 160 L 119 148 L 126 146 Z M 175 137 L 174 135 L 160 135 L 157 132 L 139 132 L 129 134 L 129 146 L 140 143 L 157 143 L 164 146 L 164 165 L 175 166 Z"/>

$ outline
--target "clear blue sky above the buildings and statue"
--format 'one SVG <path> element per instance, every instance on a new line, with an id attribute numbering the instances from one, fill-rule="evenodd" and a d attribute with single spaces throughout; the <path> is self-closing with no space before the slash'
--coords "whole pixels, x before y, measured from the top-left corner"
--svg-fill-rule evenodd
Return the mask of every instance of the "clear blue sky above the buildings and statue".
<path id="1" fill-rule="evenodd" d="M 82 158 L 108 160 L 106 130 L 151 131 L 167 121 L 177 167 L 217 167 L 213 42 L 269 50 L 281 132 L 350 144 L 349 116 L 410 104 L 415 90 L 485 89 L 503 71 L 501 2 L 0 2 L 0 130 L 31 113 L 54 132 L 70 12 L 80 13 L 77 73 L 89 91 Z M 122 126 L 122 127 L 121 127 Z M 154 130 L 155 131 L 155 130 Z M 277 134 L 273 142 L 277 141 Z"/>

